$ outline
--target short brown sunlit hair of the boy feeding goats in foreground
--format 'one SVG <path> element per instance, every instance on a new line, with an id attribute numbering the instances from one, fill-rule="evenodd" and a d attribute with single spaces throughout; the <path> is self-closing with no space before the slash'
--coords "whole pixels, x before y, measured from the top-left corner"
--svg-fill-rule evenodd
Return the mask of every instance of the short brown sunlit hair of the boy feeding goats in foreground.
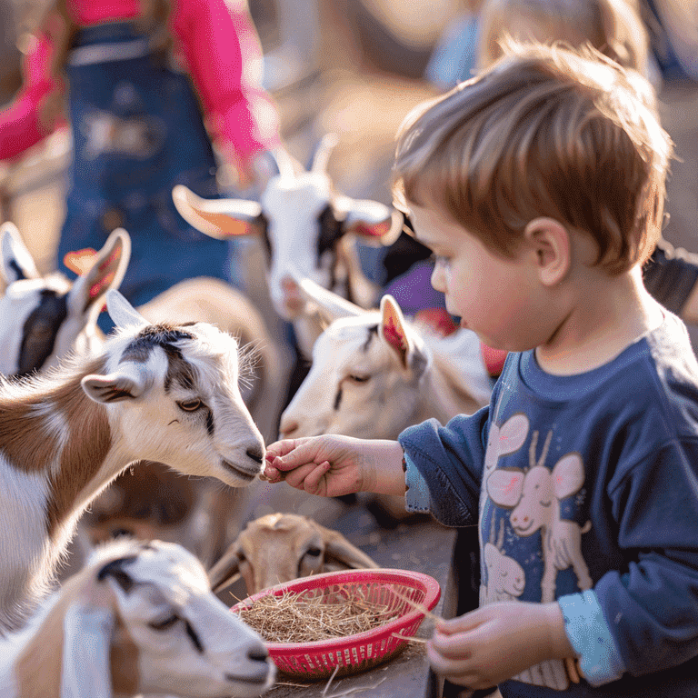
<path id="1" fill-rule="evenodd" d="M 511 257 L 533 218 L 591 234 L 621 274 L 661 234 L 672 143 L 644 78 L 594 51 L 510 42 L 489 70 L 408 115 L 394 195 L 436 205 Z"/>

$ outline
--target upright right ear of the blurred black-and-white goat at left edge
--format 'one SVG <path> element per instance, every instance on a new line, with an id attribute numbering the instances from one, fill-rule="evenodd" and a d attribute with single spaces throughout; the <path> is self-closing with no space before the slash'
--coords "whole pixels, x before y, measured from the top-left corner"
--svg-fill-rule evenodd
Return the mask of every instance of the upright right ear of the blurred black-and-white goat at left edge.
<path id="1" fill-rule="evenodd" d="M 99 313 L 106 292 L 118 288 L 124 280 L 130 258 L 131 237 L 123 228 L 117 228 L 95 256 L 90 269 L 75 279 L 68 294 L 71 311 L 83 315 L 95 309 L 95 314 Z"/>

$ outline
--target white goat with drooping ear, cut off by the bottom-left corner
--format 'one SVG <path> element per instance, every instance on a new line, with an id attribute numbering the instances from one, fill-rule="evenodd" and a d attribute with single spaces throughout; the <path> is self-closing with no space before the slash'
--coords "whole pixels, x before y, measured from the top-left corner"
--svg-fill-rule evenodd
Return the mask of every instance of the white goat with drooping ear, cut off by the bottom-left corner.
<path id="1" fill-rule="evenodd" d="M 0 641 L 3 698 L 243 698 L 274 682 L 264 643 L 175 543 L 121 539 Z"/>

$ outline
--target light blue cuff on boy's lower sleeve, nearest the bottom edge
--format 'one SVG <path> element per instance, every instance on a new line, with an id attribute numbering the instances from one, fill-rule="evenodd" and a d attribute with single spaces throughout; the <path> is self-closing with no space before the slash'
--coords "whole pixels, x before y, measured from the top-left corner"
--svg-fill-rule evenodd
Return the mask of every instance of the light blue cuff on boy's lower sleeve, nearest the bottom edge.
<path id="1" fill-rule="evenodd" d="M 596 593 L 571 593 L 561 596 L 557 603 L 563 611 L 567 637 L 574 652 L 579 654 L 584 678 L 593 686 L 620 679 L 625 664 L 603 617 Z"/>

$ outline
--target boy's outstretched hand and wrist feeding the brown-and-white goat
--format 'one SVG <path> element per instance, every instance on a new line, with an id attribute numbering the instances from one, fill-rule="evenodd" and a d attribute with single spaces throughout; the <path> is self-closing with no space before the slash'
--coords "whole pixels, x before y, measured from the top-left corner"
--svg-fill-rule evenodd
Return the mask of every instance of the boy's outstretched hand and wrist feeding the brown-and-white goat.
<path id="1" fill-rule="evenodd" d="M 262 479 L 284 480 L 297 490 L 324 497 L 404 494 L 402 462 L 403 449 L 395 441 L 325 434 L 268 445 Z"/>

